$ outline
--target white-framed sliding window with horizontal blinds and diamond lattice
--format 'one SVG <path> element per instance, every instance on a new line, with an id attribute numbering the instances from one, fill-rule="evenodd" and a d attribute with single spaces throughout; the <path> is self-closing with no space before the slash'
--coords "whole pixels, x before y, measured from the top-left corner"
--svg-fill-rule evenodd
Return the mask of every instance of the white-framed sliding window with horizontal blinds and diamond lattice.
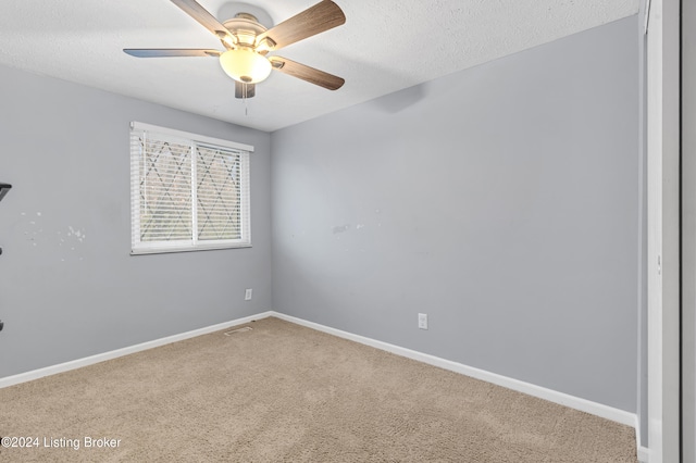
<path id="1" fill-rule="evenodd" d="M 130 253 L 250 247 L 250 151 L 132 123 Z"/>

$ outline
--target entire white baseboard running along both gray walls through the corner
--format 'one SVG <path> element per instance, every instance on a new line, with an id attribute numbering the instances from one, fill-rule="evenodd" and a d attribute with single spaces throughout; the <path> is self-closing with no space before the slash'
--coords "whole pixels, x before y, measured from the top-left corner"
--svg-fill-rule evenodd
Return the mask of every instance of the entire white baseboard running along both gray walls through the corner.
<path id="1" fill-rule="evenodd" d="M 601 403 L 593 402 L 589 400 L 581 399 L 579 397 L 570 396 L 563 392 L 558 392 L 552 389 L 547 389 L 540 386 L 536 386 L 530 383 L 524 383 L 518 379 L 509 378 L 507 376 L 498 375 L 495 373 L 486 372 L 484 370 L 474 368 L 461 363 L 452 362 L 449 360 L 440 359 L 435 355 L 418 352 L 411 349 L 406 349 L 399 346 L 390 345 L 388 342 L 377 341 L 375 339 L 366 338 L 360 335 L 353 335 L 348 331 L 332 328 L 328 326 L 320 325 L 318 323 L 308 322 L 295 316 L 285 315 L 283 313 L 268 311 L 257 315 L 250 315 L 244 318 L 237 318 L 231 322 L 221 323 L 217 325 L 208 326 L 192 331 L 182 333 L 179 335 L 169 336 L 161 339 L 156 339 L 148 342 L 126 347 L 123 349 L 116 349 L 110 352 L 104 352 L 84 359 L 77 359 L 74 361 L 60 363 L 58 365 L 47 366 L 45 368 L 34 370 L 32 372 L 21 373 L 14 376 L 8 376 L 0 378 L 0 388 L 14 386 L 21 383 L 38 379 L 44 376 L 50 376 L 58 373 L 69 372 L 71 370 L 80 368 L 83 366 L 92 365 L 95 363 L 103 362 L 107 360 L 116 359 L 130 353 L 140 352 L 147 349 L 169 345 L 184 339 L 194 338 L 196 336 L 202 336 L 210 333 L 219 331 L 229 328 L 232 326 L 241 325 L 252 322 L 254 320 L 262 320 L 269 316 L 275 316 L 286 322 L 295 323 L 297 325 L 306 326 L 308 328 L 316 329 L 319 331 L 327 333 L 330 335 L 338 336 L 344 339 L 360 342 L 365 346 L 371 346 L 376 349 L 381 349 L 387 352 L 391 352 L 397 355 L 406 356 L 408 359 L 417 360 L 419 362 L 427 363 L 430 365 L 438 366 L 440 368 L 449 370 L 451 372 L 460 373 L 465 376 L 470 376 L 484 381 L 493 383 L 498 386 L 506 387 L 508 389 L 517 390 L 519 392 L 527 393 L 530 396 L 548 400 L 549 402 L 558 403 L 561 405 L 570 406 L 571 409 L 580 410 L 585 413 L 589 413 L 596 416 L 600 416 L 606 420 L 610 420 L 617 423 L 621 423 L 626 426 L 635 428 L 636 431 L 636 446 L 638 461 L 647 463 L 649 460 L 649 451 L 647 448 L 641 446 L 639 429 L 637 426 L 637 416 L 635 413 L 630 413 L 623 410 L 614 409 Z"/>

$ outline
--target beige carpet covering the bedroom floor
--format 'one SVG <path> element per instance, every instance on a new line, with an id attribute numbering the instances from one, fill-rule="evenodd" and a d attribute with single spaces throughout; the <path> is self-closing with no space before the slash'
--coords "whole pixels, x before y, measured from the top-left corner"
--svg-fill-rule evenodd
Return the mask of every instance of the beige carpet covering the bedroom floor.
<path id="1" fill-rule="evenodd" d="M 0 461 L 636 462 L 630 427 L 277 318 L 248 326 L 0 389 L 0 436 L 39 445 Z"/>

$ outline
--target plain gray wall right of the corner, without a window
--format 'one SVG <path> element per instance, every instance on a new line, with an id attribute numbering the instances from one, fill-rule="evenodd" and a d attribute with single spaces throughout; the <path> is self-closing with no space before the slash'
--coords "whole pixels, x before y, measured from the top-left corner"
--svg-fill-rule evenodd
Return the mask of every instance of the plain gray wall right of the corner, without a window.
<path id="1" fill-rule="evenodd" d="M 274 310 L 635 412 L 636 21 L 274 133 Z"/>

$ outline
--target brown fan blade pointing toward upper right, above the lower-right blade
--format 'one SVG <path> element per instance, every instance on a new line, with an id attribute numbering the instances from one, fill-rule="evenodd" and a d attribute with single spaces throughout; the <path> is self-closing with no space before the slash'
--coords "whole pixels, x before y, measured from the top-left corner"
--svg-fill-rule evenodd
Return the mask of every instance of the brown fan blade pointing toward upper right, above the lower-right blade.
<path id="1" fill-rule="evenodd" d="M 340 26 L 345 22 L 346 15 L 340 8 L 331 0 L 324 0 L 259 35 L 257 46 L 264 39 L 271 39 L 273 40 L 271 48 L 279 50 L 296 41 Z"/>

